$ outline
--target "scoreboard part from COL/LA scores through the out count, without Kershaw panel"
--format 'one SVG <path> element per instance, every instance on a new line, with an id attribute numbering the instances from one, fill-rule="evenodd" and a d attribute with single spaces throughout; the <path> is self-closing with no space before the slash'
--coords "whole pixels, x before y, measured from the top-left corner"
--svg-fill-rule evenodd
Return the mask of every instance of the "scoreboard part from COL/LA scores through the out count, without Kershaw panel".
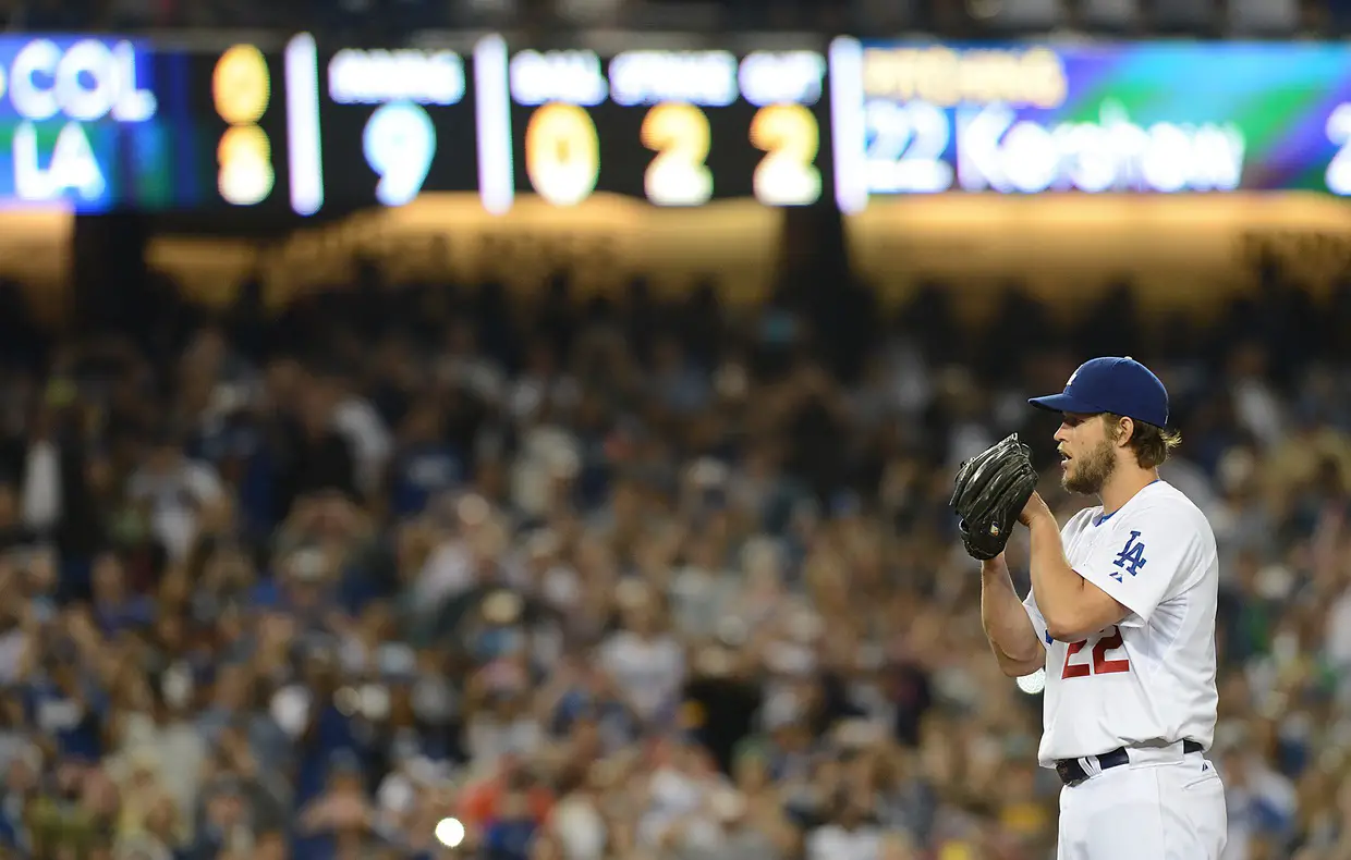
<path id="1" fill-rule="evenodd" d="M 497 35 L 457 51 L 299 34 L 208 54 L 69 36 L 3 38 L 0 61 L 11 47 L 72 74 L 96 55 L 108 82 L 93 90 L 120 101 L 97 116 L 80 107 L 73 131 L 50 112 L 35 128 L 18 116 L 5 155 L 19 180 L 0 184 L 9 207 L 316 215 L 473 192 L 505 212 L 517 194 L 561 207 L 597 192 L 662 207 L 834 194 L 830 68 L 813 50 L 603 57 L 509 50 Z M 41 80 L 26 77 L 32 62 L 7 65 L 11 95 Z"/>

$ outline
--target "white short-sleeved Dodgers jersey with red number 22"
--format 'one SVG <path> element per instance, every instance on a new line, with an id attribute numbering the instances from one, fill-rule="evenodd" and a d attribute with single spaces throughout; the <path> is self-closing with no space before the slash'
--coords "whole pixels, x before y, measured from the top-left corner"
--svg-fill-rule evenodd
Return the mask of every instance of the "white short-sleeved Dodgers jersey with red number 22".
<path id="1" fill-rule="evenodd" d="M 1220 563 L 1205 514 L 1155 481 L 1115 513 L 1081 510 L 1061 531 L 1081 576 L 1129 610 L 1077 643 L 1046 643 L 1046 713 L 1038 760 L 1078 759 L 1150 741 L 1215 738 L 1215 610 Z"/>

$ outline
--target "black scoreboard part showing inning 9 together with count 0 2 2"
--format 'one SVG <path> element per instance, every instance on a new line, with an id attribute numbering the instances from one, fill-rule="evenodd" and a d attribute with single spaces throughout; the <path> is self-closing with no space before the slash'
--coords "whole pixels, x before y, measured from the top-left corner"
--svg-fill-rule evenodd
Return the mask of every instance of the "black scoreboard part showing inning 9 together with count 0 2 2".
<path id="1" fill-rule="evenodd" d="M 508 53 L 286 47 L 290 200 L 399 205 L 422 192 L 596 192 L 688 207 L 831 193 L 827 63 L 815 51 Z"/>

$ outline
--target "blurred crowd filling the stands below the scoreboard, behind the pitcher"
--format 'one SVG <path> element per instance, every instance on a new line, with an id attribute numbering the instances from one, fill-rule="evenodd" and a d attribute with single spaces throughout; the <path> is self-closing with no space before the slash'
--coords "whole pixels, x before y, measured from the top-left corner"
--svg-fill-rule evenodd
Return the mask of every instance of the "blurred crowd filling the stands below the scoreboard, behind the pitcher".
<path id="1" fill-rule="evenodd" d="M 367 274 L 57 338 L 0 296 L 0 845 L 1046 860 L 1039 678 L 988 651 L 951 474 L 1019 431 L 1089 504 L 1024 398 L 1131 354 L 1223 555 L 1228 860 L 1351 857 L 1351 285 L 950 297 Z"/>

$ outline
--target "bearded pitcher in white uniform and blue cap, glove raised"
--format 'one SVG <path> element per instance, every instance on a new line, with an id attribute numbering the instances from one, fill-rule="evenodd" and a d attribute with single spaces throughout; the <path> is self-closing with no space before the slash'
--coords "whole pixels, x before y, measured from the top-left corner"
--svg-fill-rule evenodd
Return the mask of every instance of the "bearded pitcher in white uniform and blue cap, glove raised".
<path id="1" fill-rule="evenodd" d="M 1219 860 L 1224 787 L 1215 734 L 1219 560 L 1205 514 L 1159 479 L 1177 436 L 1163 383 L 1097 358 L 1034 406 L 1063 414 L 1062 483 L 1096 495 L 1061 529 L 1011 436 L 963 464 L 954 506 L 981 559 L 981 618 L 1012 678 L 1046 670 L 1038 759 L 1065 783 L 1059 860 Z M 1020 601 L 1004 545 L 1031 532 Z"/>

